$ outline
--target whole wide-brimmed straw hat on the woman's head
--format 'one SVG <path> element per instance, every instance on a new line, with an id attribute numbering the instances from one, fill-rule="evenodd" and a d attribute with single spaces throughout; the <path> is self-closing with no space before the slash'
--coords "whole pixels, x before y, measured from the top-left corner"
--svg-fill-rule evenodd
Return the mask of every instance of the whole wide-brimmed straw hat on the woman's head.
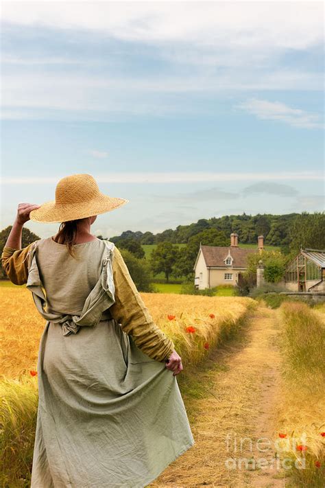
<path id="1" fill-rule="evenodd" d="M 91 174 L 71 174 L 56 185 L 56 200 L 29 213 L 35 222 L 67 222 L 109 212 L 130 200 L 104 195 Z"/>

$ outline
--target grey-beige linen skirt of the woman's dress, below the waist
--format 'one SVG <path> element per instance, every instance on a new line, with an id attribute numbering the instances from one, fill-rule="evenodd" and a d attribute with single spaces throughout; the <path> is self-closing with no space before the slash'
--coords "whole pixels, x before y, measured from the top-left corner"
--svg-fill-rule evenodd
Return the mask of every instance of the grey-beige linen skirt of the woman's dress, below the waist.
<path id="1" fill-rule="evenodd" d="M 47 321 L 31 488 L 145 487 L 193 444 L 176 376 L 119 323 Z"/>

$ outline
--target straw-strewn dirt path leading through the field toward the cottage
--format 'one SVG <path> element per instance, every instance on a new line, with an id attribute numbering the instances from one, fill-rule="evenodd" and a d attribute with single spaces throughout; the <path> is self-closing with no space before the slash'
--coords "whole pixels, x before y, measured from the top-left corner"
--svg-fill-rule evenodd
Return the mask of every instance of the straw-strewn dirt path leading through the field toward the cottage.
<path id="1" fill-rule="evenodd" d="M 274 459 L 277 340 L 276 312 L 260 305 L 239 338 L 211 353 L 183 395 L 195 445 L 150 488 L 285 487 Z"/>

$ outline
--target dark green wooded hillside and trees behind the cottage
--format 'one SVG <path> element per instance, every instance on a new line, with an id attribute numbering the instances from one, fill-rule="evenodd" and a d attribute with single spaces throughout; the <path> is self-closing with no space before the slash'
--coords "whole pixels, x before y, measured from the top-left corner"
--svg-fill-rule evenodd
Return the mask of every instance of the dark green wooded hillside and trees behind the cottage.
<path id="1" fill-rule="evenodd" d="M 300 247 L 325 249 L 325 213 L 302 212 L 285 216 L 258 214 L 257 216 L 224 216 L 221 218 L 201 219 L 188 226 L 178 226 L 175 231 L 167 229 L 163 233 L 141 233 L 126 231 L 119 236 L 109 237 L 121 251 L 130 275 L 140 291 L 152 291 L 155 275 L 163 272 L 167 282 L 170 279 L 193 281 L 195 259 L 200 243 L 206 246 L 230 246 L 230 233 L 237 232 L 239 245 L 254 244 L 257 250 L 258 235 L 264 236 L 264 244 L 278 246 L 280 251 L 263 251 L 266 264 L 267 281 L 276 282 L 283 276 L 285 266 L 300 251 Z M 10 233 L 11 226 L 0 233 L 0 251 Z M 175 241 L 176 236 L 180 237 Z M 169 236 L 169 238 L 167 238 Z M 106 239 L 102 235 L 97 236 Z M 150 237 L 150 238 L 149 238 Z M 148 242 L 154 239 L 154 242 Z M 40 239 L 24 227 L 22 247 Z M 145 259 L 143 244 L 156 244 L 149 259 Z M 185 244 L 178 246 L 178 244 Z M 247 275 L 252 277 L 256 270 L 258 253 L 249 257 Z M 1 268 L 1 277 L 5 273 Z"/>

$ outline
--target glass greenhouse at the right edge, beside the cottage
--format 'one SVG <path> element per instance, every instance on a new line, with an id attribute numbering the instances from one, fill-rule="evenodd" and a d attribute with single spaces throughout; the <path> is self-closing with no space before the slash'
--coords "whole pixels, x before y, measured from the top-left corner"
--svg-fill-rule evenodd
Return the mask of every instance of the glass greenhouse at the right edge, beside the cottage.
<path id="1" fill-rule="evenodd" d="M 287 265 L 284 284 L 292 292 L 325 292 L 325 251 L 301 248 Z"/>

